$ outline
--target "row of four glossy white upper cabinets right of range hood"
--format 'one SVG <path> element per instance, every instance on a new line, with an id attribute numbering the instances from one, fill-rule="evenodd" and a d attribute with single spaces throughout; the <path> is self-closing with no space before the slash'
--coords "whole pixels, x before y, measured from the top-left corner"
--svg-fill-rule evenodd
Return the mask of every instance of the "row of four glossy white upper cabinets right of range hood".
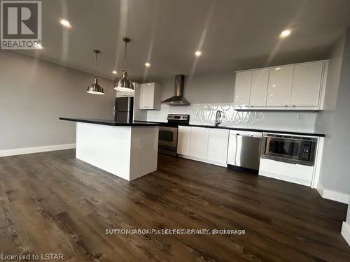
<path id="1" fill-rule="evenodd" d="M 323 110 L 328 60 L 236 72 L 236 110 Z"/>

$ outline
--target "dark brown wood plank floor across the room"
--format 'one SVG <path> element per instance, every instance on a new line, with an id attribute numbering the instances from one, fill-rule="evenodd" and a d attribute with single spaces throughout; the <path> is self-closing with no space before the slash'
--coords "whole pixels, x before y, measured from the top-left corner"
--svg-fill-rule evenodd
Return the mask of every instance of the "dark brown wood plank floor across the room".
<path id="1" fill-rule="evenodd" d="M 297 184 L 160 155 L 126 182 L 73 150 L 0 158 L 0 254 L 64 261 L 350 261 L 346 205 Z M 245 235 L 106 235 L 226 228 Z"/>

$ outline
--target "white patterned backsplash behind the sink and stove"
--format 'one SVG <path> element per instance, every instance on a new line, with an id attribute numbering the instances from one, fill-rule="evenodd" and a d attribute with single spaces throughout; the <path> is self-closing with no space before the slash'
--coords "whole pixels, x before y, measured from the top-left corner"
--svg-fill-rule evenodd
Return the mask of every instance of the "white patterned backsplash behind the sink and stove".
<path id="1" fill-rule="evenodd" d="M 190 115 L 190 124 L 213 125 L 216 111 L 225 112 L 221 126 L 279 131 L 314 132 L 316 112 L 236 111 L 232 103 L 193 103 L 189 106 L 163 104 L 161 110 L 148 110 L 147 121 L 167 122 L 167 115 Z"/>

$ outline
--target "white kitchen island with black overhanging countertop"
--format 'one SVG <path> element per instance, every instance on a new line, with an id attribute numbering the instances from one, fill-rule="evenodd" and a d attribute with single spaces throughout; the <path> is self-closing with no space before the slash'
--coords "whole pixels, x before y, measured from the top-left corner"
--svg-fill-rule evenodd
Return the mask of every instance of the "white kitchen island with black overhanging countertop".
<path id="1" fill-rule="evenodd" d="M 157 170 L 158 124 L 59 117 L 76 122 L 76 158 L 132 181 Z"/>

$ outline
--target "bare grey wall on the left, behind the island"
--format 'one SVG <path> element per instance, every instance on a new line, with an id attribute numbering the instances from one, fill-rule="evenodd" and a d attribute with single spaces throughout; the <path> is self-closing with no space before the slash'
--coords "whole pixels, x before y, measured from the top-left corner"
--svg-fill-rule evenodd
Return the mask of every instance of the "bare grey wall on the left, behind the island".
<path id="1" fill-rule="evenodd" d="M 75 143 L 73 122 L 58 117 L 112 118 L 115 91 L 102 79 L 104 96 L 87 94 L 93 76 L 0 51 L 0 150 Z"/>

